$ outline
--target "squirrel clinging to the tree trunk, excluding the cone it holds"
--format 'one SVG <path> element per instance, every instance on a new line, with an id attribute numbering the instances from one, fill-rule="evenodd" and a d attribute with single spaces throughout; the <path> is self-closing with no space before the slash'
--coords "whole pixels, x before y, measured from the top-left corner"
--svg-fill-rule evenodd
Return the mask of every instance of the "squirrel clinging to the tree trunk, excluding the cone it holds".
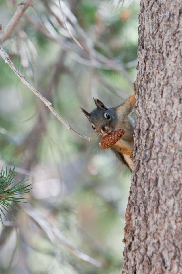
<path id="1" fill-rule="evenodd" d="M 121 162 L 126 164 L 128 168 L 133 170 L 133 146 L 134 146 L 134 120 L 129 116 L 132 112 L 136 99 L 136 88 L 134 83 L 134 94 L 128 97 L 122 104 L 114 107 L 107 107 L 99 99 L 94 99 L 97 106 L 90 113 L 81 108 L 87 119 L 92 125 L 92 128 L 101 136 L 118 129 L 124 130 L 124 135 L 111 146 L 111 150 Z"/>

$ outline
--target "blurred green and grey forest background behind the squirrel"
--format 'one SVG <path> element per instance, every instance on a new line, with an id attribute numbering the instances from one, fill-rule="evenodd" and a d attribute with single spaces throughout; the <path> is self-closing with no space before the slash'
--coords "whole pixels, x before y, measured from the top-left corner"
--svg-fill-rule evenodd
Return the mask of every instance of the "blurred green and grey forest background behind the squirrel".
<path id="1" fill-rule="evenodd" d="M 18 3 L 1 0 L 4 29 Z M 33 187 L 28 203 L 12 212 L 16 219 L 0 224 L 2 274 L 116 274 L 122 268 L 131 174 L 101 150 L 79 106 L 90 112 L 93 96 L 114 106 L 133 93 L 139 1 L 60 3 L 34 1 L 3 47 L 92 141 L 66 129 L 0 58 L 0 167 L 16 166 L 16 180 L 27 175 Z"/>

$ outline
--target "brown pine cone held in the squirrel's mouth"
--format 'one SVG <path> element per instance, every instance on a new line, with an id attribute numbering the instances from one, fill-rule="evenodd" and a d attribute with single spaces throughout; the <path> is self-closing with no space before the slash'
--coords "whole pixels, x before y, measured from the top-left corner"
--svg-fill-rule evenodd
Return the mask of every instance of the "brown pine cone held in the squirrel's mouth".
<path id="1" fill-rule="evenodd" d="M 99 143 L 100 147 L 103 149 L 112 147 L 118 142 L 118 140 L 123 136 L 123 134 L 124 129 L 117 129 L 103 136 Z"/>

